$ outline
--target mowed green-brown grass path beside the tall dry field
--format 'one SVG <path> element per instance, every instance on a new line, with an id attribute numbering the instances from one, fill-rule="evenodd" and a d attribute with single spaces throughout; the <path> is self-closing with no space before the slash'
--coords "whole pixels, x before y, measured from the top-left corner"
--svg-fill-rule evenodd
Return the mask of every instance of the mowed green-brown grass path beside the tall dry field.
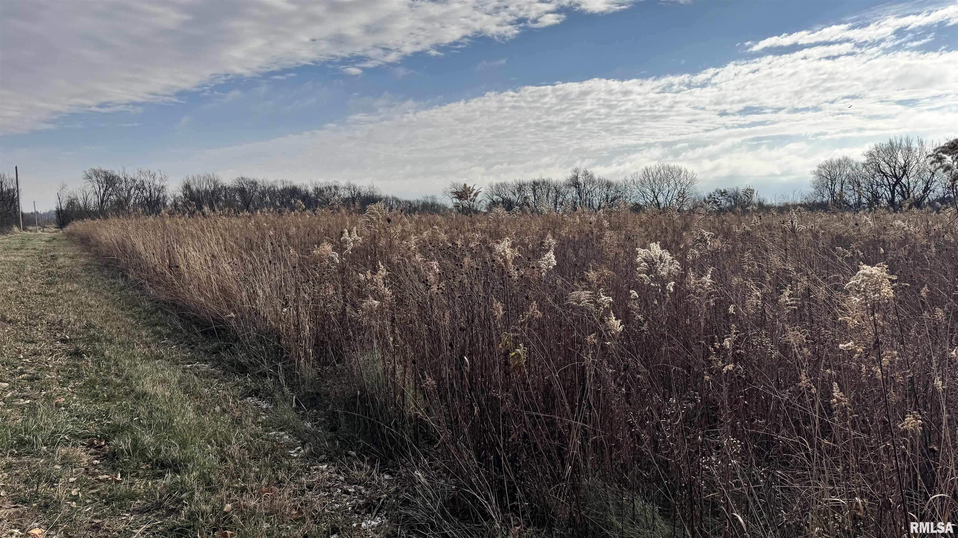
<path id="1" fill-rule="evenodd" d="M 390 532 L 388 475 L 128 288 L 63 235 L 0 237 L 0 537 Z"/>

